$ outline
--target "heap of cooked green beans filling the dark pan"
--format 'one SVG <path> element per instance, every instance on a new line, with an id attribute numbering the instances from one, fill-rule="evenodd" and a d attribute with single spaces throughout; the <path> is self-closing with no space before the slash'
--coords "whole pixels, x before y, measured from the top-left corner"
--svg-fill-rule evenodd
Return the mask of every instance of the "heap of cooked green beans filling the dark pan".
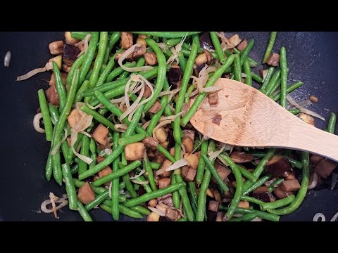
<path id="1" fill-rule="evenodd" d="M 191 94 L 196 91 L 196 84 L 192 82 L 192 76 L 199 77 L 196 59 L 201 53 L 206 53 L 203 51 L 204 45 L 200 44 L 201 32 L 130 33 L 127 34 L 130 38 L 137 37 L 139 44 L 146 45 L 147 53 L 154 53 L 157 63 L 152 65 L 150 70 L 142 70 L 142 67 L 149 65 L 146 55 L 127 58 L 122 66 L 118 63 L 117 58 L 132 46 L 125 47 L 125 32 L 70 32 L 73 39 L 82 40 L 87 34 L 91 34 L 91 39 L 87 51 L 77 57 L 70 67 L 65 84 L 58 65 L 52 63 L 58 105 L 48 103 L 44 91 L 38 91 L 46 141 L 51 142 L 46 162 L 46 179 L 54 178 L 59 185 L 64 183 L 70 210 L 79 212 L 84 221 L 93 221 L 91 214 L 96 212 L 98 207 L 108 212 L 114 220 L 120 219 L 120 214 L 134 219 L 144 219 L 144 216 L 150 219 L 152 211 L 147 208 L 148 202 L 161 202 L 163 196 L 169 196 L 172 198 L 172 208 L 180 214 L 177 221 L 206 221 L 208 203 L 213 199 L 218 201 L 218 195 L 222 199 L 231 199 L 227 206 L 219 203 L 218 212 L 222 212 L 223 221 L 251 221 L 255 218 L 279 221 L 280 215 L 297 209 L 306 195 L 308 186 L 308 153 L 301 153 L 299 160 L 292 150 L 280 152 L 276 148 L 255 150 L 244 147 L 245 153 L 260 160 L 258 163 L 252 162 L 256 164 L 253 168 L 252 165 L 251 168 L 246 168 L 234 162 L 229 151 L 223 151 L 218 157 L 211 159 L 211 153 L 219 151 L 219 143 L 199 136 L 197 131 L 192 140 L 192 147 L 189 148 L 193 148 L 192 154 L 196 155 L 194 159 L 197 157 L 198 161 L 192 162 L 188 154 L 182 153 L 187 150 L 186 145 L 189 144 L 187 136 L 184 136 L 185 130 L 192 129 L 189 120 L 208 96 L 206 92 L 198 93 L 194 103 L 189 105 L 187 112 L 182 115 L 182 111 L 189 104 Z M 296 82 L 288 85 L 289 69 L 287 50 L 284 46 L 278 49 L 280 67 L 266 67 L 268 73 L 263 79 L 253 71 L 258 62 L 249 57 L 255 44 L 253 39 L 240 51 L 237 47 L 224 48 L 224 45 L 220 44 L 218 32 L 209 32 L 207 35 L 210 35 L 211 46 L 215 51 L 210 52 L 213 59 L 208 59 L 210 62 L 206 64 L 215 67 L 215 71 L 209 74 L 204 87 L 211 87 L 224 74 L 230 74 L 230 78 L 258 87 L 259 91 L 277 103 L 279 101 L 280 105 L 286 108 L 287 94 L 303 84 Z M 271 32 L 263 64 L 267 62 L 273 49 L 277 51 L 277 48 L 274 48 L 276 37 L 277 32 Z M 132 42 L 136 44 L 135 39 Z M 178 52 L 175 53 L 173 49 Z M 173 63 L 168 62 L 171 56 L 175 56 Z M 182 72 L 178 83 L 173 82 L 169 76 L 169 70 L 174 63 Z M 125 67 L 132 70 L 127 71 Z M 132 79 L 135 77 L 143 77 L 142 82 L 143 79 L 151 82 L 154 89 L 150 96 L 141 98 L 140 93 L 146 92 L 149 87 L 146 84 L 144 87 L 139 86 L 141 82 L 135 83 L 135 79 Z M 131 89 L 131 86 L 134 88 Z M 176 89 L 174 86 L 179 89 L 176 94 L 171 94 L 170 91 Z M 124 107 L 129 108 L 137 102 L 142 105 L 133 107 L 132 116 L 122 118 Z M 159 109 L 153 113 L 151 109 L 155 108 L 155 104 Z M 78 115 L 92 116 L 91 122 L 85 122 L 86 129 L 78 130 L 77 126 L 74 126 L 74 122 L 68 117 L 71 110 L 78 110 Z M 298 114 L 300 111 L 289 112 Z M 75 124 L 79 124 L 78 120 L 80 119 L 75 120 Z M 168 138 L 160 143 L 161 136 L 153 136 L 153 132 L 157 131 L 158 125 L 163 124 L 164 120 L 168 121 L 168 124 L 164 125 Z M 334 134 L 336 121 L 337 116 L 332 112 L 327 126 L 327 131 L 331 134 Z M 98 142 L 101 141 L 97 137 L 100 133 L 96 132 L 99 124 L 108 131 L 105 136 L 106 145 Z M 64 136 L 65 132 L 68 133 L 67 136 Z M 169 132 L 173 138 L 169 136 Z M 77 138 L 71 147 L 68 141 L 74 134 Z M 65 137 L 68 137 L 68 140 Z M 130 152 L 128 149 L 135 145 L 138 145 L 140 150 Z M 139 151 L 140 156 L 137 155 Z M 253 191 L 273 178 L 265 171 L 265 164 L 275 154 L 283 154 L 292 167 L 302 169 L 301 188 L 298 193 L 284 199 L 263 202 L 254 197 Z M 137 158 L 132 158 L 132 155 Z M 104 157 L 104 160 L 100 161 L 100 157 Z M 175 164 L 177 161 L 182 162 L 182 159 L 188 162 L 187 167 L 165 171 L 168 167 L 165 168 L 164 163 L 168 164 L 170 161 Z M 193 164 L 196 167 L 193 168 Z M 187 169 L 188 172 L 185 173 Z M 191 179 L 188 174 L 191 175 L 194 169 L 195 176 Z M 108 174 L 101 174 L 103 171 L 108 171 Z M 169 172 L 170 176 L 163 176 L 164 172 Z M 223 178 L 225 172 L 232 174 L 233 182 L 227 180 L 230 177 Z M 170 179 L 170 183 L 165 187 L 161 184 L 163 178 L 168 181 Z M 274 194 L 273 190 L 284 180 L 286 179 L 282 177 L 275 179 L 268 186 L 268 193 Z M 82 191 L 82 187 L 87 186 L 86 181 L 89 181 L 93 190 L 90 202 L 84 202 L 78 193 Z M 249 202 L 249 209 L 239 208 L 241 201 Z M 236 214 L 242 216 L 236 217 Z"/>

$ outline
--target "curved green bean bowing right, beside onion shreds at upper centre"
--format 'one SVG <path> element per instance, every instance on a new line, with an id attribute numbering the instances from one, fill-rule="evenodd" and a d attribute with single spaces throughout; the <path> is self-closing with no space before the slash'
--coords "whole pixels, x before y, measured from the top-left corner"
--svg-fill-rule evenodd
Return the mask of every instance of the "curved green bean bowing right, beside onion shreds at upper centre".
<path id="1" fill-rule="evenodd" d="M 165 60 L 165 56 L 163 55 L 161 48 L 158 46 L 158 44 L 153 39 L 146 39 L 146 44 L 148 44 L 148 46 L 150 46 L 156 53 L 156 57 L 158 60 L 158 73 L 157 73 L 157 79 L 156 79 L 153 97 L 146 103 L 146 106 L 144 106 L 144 110 L 143 110 L 144 112 L 147 112 L 149 108 L 151 108 L 151 106 L 154 105 L 156 99 L 158 98 L 158 94 L 161 93 L 163 89 L 166 70 L 167 70 L 167 63 Z"/>

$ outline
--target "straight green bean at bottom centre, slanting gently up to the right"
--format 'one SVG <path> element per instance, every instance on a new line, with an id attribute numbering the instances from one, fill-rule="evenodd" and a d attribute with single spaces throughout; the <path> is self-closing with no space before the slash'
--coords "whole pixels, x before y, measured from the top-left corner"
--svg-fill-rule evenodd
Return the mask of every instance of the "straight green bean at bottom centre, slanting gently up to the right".
<path id="1" fill-rule="evenodd" d="M 144 193 L 144 195 L 135 197 L 132 200 L 127 200 L 125 202 L 126 207 L 134 207 L 136 205 L 142 204 L 146 201 L 152 200 L 157 197 L 162 197 L 166 194 L 173 193 L 175 190 L 179 190 L 180 188 L 184 187 L 184 183 L 175 183 L 174 185 L 159 189 L 159 190 L 154 190 L 152 193 Z"/>

